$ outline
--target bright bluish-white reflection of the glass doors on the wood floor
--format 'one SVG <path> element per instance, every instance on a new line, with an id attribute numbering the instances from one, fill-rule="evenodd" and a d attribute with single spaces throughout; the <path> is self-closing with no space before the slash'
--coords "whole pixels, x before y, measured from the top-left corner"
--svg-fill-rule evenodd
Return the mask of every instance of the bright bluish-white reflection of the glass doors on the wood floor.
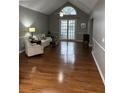
<path id="1" fill-rule="evenodd" d="M 75 44 L 73 42 L 61 42 L 61 57 L 66 64 L 75 63 Z"/>

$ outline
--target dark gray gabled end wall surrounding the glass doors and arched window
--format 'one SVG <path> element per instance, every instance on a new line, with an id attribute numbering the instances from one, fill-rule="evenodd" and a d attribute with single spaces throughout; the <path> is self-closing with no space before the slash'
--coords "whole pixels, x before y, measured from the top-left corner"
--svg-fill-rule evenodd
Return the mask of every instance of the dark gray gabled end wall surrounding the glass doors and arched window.
<path id="1" fill-rule="evenodd" d="M 77 15 L 76 16 L 64 16 L 60 17 L 59 12 L 63 9 L 65 6 L 72 6 L 76 9 Z M 53 12 L 51 15 L 49 15 L 49 31 L 51 31 L 53 34 L 56 34 L 59 36 L 60 30 L 59 30 L 59 20 L 60 19 L 76 19 L 76 41 L 82 41 L 83 40 L 83 34 L 87 33 L 86 29 L 81 29 L 81 23 L 88 23 L 89 15 L 85 12 L 81 11 L 77 7 L 73 6 L 71 3 L 65 3 L 62 7 L 57 9 L 55 12 Z"/>

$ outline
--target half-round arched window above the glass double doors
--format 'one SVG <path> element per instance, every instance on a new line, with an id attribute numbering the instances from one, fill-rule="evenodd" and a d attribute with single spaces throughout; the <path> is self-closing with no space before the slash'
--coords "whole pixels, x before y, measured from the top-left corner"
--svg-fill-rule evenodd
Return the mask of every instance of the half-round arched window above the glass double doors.
<path id="1" fill-rule="evenodd" d="M 64 7 L 61 10 L 61 12 L 63 12 L 63 15 L 76 15 L 77 14 L 76 10 L 71 6 Z"/>

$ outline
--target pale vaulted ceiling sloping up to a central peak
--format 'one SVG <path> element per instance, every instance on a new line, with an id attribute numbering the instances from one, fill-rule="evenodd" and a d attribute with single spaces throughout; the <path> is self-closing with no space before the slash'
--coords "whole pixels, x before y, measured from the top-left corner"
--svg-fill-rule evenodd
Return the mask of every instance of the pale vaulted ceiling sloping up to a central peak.
<path id="1" fill-rule="evenodd" d="M 70 2 L 89 14 L 97 1 L 98 0 L 19 0 L 19 5 L 49 15 L 64 3 Z"/>

